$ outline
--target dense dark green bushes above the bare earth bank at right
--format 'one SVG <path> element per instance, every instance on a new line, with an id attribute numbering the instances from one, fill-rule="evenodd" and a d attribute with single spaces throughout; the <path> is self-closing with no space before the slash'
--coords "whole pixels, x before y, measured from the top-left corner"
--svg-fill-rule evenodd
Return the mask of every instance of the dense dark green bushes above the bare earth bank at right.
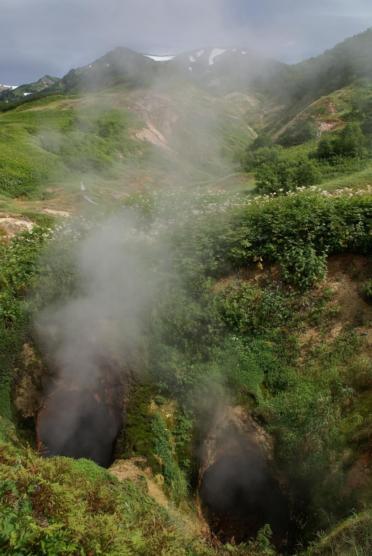
<path id="1" fill-rule="evenodd" d="M 324 276 L 324 264 L 312 263 L 314 257 L 324 261 L 325 252 L 370 252 L 371 211 L 368 197 L 294 195 L 251 203 L 231 214 L 215 248 L 220 254 L 224 250 L 233 267 L 249 264 L 255 256 L 262 257 L 264 264 L 280 260 L 287 279 L 309 285 L 318 270 L 316 280 Z M 298 256 L 301 271 L 296 274 Z"/>

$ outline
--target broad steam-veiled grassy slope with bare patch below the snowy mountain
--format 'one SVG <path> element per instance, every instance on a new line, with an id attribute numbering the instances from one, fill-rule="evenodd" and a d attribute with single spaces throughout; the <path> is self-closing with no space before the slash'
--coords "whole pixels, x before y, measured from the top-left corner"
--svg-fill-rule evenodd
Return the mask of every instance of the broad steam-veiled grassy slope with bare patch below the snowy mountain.
<path id="1" fill-rule="evenodd" d="M 245 97 L 216 99 L 187 83 L 166 90 L 159 84 L 153 92 L 117 86 L 84 97 L 52 96 L 2 113 L 3 210 L 8 198 L 17 197 L 21 207 L 35 208 L 34 201 L 42 201 L 37 205 L 73 211 L 81 201 L 81 179 L 100 203 L 143 186 L 219 180 L 221 174 L 231 173 L 234 151 L 245 148 L 254 136 L 242 120 L 249 106 Z M 102 146 L 97 130 L 87 130 L 85 114 L 94 110 L 112 110 L 126 120 L 121 141 L 105 137 Z M 83 122 L 71 123 L 79 118 Z M 141 130 L 145 142 L 135 138 Z M 151 145 L 158 143 L 158 133 L 163 142 Z M 71 150 L 78 145 L 74 159 Z M 95 167 L 97 159 L 102 164 Z"/>

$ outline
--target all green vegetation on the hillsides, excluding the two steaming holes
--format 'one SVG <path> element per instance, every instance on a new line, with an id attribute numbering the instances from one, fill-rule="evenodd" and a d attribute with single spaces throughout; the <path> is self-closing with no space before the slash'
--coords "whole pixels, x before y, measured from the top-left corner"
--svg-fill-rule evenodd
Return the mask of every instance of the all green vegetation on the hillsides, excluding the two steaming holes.
<path id="1" fill-rule="evenodd" d="M 175 151 L 159 155 L 135 136 L 145 123 L 129 110 L 130 95 L 146 90 L 150 74 L 130 82 L 120 66 L 110 81 L 99 73 L 92 91 L 72 70 L 49 93 L 1 107 L 0 206 L 34 224 L 0 243 L 1 553 L 277 556 L 270 524 L 239 545 L 190 525 L 200 446 L 224 405 L 242 408 L 272 439 L 275 465 L 301 502 L 286 554 L 371 553 L 370 34 L 287 68 L 278 78 L 289 104 L 277 102 L 286 112 L 275 124 L 276 108 L 264 116 L 267 83 L 241 120 L 240 108 L 221 118 L 214 158 L 190 156 L 190 176 L 201 181 L 187 187 L 164 177 L 177 175 Z M 198 110 L 217 102 L 194 85 L 186 91 Z M 230 99 L 218 102 L 232 110 Z M 175 150 L 182 134 L 196 133 L 188 122 L 192 131 L 173 126 Z M 149 161 L 151 176 L 141 173 Z M 127 196 L 101 191 L 101 206 L 84 211 L 76 201 L 65 222 L 42 210 L 49 195 L 59 206 L 53 187 L 82 176 L 120 182 L 133 168 L 137 180 L 158 181 Z M 27 396 L 42 397 L 48 376 L 35 316 L 88 295 L 78 248 L 113 215 L 131 222 L 151 300 L 141 306 L 125 430 L 103 469 L 43 459 Z M 133 462 L 135 476 L 121 479 L 117 469 Z"/>

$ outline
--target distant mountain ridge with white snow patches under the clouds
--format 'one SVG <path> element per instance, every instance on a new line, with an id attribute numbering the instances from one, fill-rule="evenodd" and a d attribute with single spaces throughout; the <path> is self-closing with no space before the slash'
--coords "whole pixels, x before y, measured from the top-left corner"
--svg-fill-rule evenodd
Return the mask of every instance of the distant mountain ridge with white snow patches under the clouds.
<path id="1" fill-rule="evenodd" d="M 29 93 L 76 95 L 103 91 L 116 85 L 129 89 L 151 87 L 157 81 L 185 79 L 214 96 L 249 93 L 279 78 L 286 64 L 248 48 L 208 47 L 175 56 L 152 56 L 117 47 L 105 56 L 58 79 L 44 76 L 37 83 L 4 91 L 0 101 L 20 100 Z"/>

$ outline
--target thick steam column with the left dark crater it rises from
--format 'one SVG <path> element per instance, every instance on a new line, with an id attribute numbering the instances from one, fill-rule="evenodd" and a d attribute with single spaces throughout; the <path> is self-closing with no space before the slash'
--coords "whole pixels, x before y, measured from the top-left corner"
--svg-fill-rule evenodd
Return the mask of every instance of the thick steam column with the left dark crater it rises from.
<path id="1" fill-rule="evenodd" d="M 55 373 L 38 424 L 47 455 L 110 460 L 121 424 L 117 370 L 131 362 L 154 284 L 131 225 L 115 219 L 91 232 L 77 250 L 81 295 L 38 317 Z"/>

